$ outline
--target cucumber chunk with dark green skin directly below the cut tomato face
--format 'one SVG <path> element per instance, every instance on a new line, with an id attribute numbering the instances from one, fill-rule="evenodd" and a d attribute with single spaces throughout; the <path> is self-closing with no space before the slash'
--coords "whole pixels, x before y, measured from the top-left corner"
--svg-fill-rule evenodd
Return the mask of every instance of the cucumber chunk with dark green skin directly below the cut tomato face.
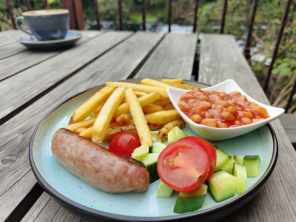
<path id="1" fill-rule="evenodd" d="M 207 189 L 208 186 L 202 184 L 193 191 L 180 192 L 175 203 L 174 213 L 183 214 L 201 208 L 207 194 Z"/>

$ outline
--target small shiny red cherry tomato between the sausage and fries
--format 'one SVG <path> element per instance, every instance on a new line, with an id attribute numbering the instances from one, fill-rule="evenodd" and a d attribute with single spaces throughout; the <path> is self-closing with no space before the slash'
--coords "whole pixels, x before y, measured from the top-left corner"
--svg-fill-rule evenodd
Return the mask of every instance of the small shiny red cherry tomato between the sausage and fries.
<path id="1" fill-rule="evenodd" d="M 120 133 L 109 144 L 109 150 L 120 155 L 132 156 L 135 148 L 141 146 L 140 138 L 135 133 Z"/>

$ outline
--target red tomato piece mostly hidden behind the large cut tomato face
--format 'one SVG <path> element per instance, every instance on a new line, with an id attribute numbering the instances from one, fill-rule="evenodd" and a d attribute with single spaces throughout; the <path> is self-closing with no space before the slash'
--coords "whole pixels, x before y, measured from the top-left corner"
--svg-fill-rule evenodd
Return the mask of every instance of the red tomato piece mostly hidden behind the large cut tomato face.
<path id="1" fill-rule="evenodd" d="M 202 139 L 200 137 L 194 137 L 194 136 L 183 137 L 180 140 L 192 141 L 206 151 L 206 153 L 208 154 L 209 160 L 210 160 L 210 168 L 209 168 L 209 173 L 208 173 L 206 180 L 210 179 L 210 177 L 212 177 L 212 175 L 214 173 L 214 170 L 216 167 L 216 160 L 217 160 L 216 150 L 212 146 L 212 144 L 210 144 L 205 139 Z"/>

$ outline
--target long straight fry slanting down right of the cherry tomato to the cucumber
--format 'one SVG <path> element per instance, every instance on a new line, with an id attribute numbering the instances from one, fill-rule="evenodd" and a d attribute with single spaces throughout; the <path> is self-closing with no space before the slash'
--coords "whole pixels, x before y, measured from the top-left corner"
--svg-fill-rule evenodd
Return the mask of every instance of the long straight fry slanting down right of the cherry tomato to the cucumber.
<path id="1" fill-rule="evenodd" d="M 130 107 L 130 112 L 134 119 L 134 123 L 136 125 L 136 129 L 141 141 L 141 144 L 147 144 L 148 147 L 152 146 L 152 137 L 150 134 L 149 127 L 147 125 L 147 121 L 145 119 L 144 113 L 142 111 L 142 107 L 137 99 L 137 96 L 133 92 L 131 88 L 125 90 L 125 98 Z"/>

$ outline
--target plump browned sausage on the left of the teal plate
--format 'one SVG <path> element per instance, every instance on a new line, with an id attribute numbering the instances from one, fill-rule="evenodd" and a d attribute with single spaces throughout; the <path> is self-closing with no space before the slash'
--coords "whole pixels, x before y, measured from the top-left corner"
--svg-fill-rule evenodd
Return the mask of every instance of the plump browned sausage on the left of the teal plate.
<path id="1" fill-rule="evenodd" d="M 149 184 L 145 165 L 103 148 L 67 129 L 58 129 L 51 151 L 68 171 L 110 193 L 144 192 Z"/>

